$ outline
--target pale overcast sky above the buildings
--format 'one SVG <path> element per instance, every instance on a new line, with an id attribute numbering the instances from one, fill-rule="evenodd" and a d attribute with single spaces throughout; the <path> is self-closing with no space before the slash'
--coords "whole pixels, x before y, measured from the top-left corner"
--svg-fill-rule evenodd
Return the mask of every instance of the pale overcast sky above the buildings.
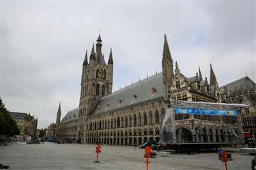
<path id="1" fill-rule="evenodd" d="M 79 107 L 85 51 L 101 31 L 105 61 L 113 48 L 113 90 L 162 71 L 164 34 L 173 61 L 191 77 L 210 63 L 223 86 L 256 80 L 255 2 L 1 3 L 1 98 L 38 128 Z"/>

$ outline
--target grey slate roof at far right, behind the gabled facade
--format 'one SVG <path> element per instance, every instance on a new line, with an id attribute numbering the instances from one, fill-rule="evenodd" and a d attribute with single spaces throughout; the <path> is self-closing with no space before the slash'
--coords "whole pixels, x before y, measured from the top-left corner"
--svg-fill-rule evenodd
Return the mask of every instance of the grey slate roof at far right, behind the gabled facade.
<path id="1" fill-rule="evenodd" d="M 229 84 L 226 84 L 224 86 L 221 86 L 220 88 L 224 89 L 227 87 L 227 91 L 231 90 L 232 92 L 238 91 L 244 91 L 244 90 L 256 90 L 256 84 L 248 78 L 247 76 L 244 78 L 240 78 L 234 82 L 231 82 Z"/>

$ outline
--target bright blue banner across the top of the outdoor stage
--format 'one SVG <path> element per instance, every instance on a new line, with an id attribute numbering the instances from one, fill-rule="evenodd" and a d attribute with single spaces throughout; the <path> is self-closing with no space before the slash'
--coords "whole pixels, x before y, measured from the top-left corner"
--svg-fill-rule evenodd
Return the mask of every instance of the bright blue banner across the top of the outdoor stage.
<path id="1" fill-rule="evenodd" d="M 176 114 L 205 114 L 205 115 L 222 115 L 222 116 L 237 116 L 236 110 L 218 110 L 218 109 L 189 109 L 184 107 L 176 107 Z"/>

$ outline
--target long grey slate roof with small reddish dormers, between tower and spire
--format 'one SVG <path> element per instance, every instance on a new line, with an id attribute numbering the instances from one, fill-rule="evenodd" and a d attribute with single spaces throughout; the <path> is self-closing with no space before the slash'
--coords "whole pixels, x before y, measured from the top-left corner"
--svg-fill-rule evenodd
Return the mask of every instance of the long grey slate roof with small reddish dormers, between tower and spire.
<path id="1" fill-rule="evenodd" d="M 151 93 L 152 87 L 156 88 L 154 95 Z M 101 114 L 120 107 L 162 97 L 164 95 L 163 87 L 162 73 L 158 73 L 157 75 L 153 75 L 141 82 L 137 82 L 136 84 L 123 88 L 122 90 L 113 92 L 111 95 L 102 97 L 98 102 L 98 106 L 100 107 L 96 107 L 93 114 Z M 136 99 L 132 99 L 133 94 L 137 95 Z M 122 102 L 117 105 L 119 99 L 121 99 Z M 109 108 L 107 108 L 108 104 Z"/>

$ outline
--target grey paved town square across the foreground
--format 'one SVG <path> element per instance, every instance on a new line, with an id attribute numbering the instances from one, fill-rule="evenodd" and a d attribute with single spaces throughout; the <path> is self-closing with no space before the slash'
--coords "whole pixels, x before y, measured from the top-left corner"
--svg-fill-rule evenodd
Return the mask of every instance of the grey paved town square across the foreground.
<path id="1" fill-rule="evenodd" d="M 130 146 L 102 146 L 100 163 L 94 163 L 94 145 L 83 144 L 23 144 L 0 146 L 0 163 L 10 169 L 146 169 L 144 150 Z M 232 148 L 233 149 L 233 148 Z M 237 149 L 238 150 L 238 149 Z M 251 169 L 254 156 L 231 152 L 234 160 L 228 169 Z M 150 158 L 150 169 L 225 169 L 217 153 L 169 154 Z"/>

